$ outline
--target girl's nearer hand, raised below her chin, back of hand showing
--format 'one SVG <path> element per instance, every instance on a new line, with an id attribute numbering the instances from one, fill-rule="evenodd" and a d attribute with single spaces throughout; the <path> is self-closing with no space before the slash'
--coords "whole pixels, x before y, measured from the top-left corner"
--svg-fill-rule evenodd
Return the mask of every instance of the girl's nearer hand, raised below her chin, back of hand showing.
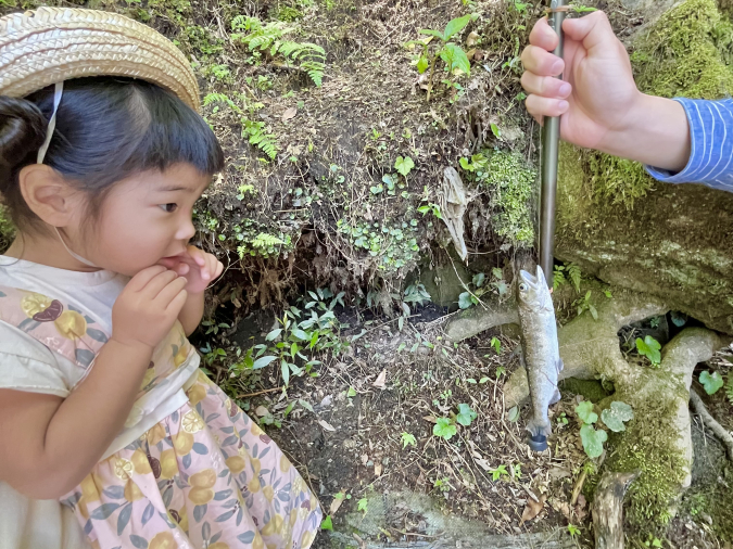
<path id="1" fill-rule="evenodd" d="M 112 307 L 112 340 L 154 348 L 167 335 L 188 299 L 187 280 L 162 265 L 142 269 Z"/>

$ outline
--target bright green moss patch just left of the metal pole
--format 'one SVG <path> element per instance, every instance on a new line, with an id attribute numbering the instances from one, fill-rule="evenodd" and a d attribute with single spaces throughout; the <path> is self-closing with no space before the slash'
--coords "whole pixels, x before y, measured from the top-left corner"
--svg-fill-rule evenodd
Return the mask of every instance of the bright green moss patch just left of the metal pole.
<path id="1" fill-rule="evenodd" d="M 527 167 L 518 153 L 495 151 L 489 165 L 477 176 L 479 184 L 490 191 L 496 210 L 491 225 L 496 234 L 514 246 L 532 246 L 534 228 L 530 202 L 536 170 Z"/>

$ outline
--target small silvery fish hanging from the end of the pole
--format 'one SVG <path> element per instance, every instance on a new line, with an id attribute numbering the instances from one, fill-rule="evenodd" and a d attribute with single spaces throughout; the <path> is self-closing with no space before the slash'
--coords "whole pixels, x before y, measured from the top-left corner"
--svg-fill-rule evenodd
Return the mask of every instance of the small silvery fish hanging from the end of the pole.
<path id="1" fill-rule="evenodd" d="M 555 306 L 542 268 L 536 276 L 519 271 L 517 306 L 521 327 L 522 355 L 527 368 L 532 419 L 527 424 L 532 441 L 546 447 L 552 433 L 547 408 L 560 399 L 557 381 L 563 370 L 563 359 L 557 342 Z"/>

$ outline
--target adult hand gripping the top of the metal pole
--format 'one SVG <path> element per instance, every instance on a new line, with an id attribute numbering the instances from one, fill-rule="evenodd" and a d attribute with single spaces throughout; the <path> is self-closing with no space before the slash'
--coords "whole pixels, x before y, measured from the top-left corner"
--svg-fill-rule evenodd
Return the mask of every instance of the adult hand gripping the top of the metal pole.
<path id="1" fill-rule="evenodd" d="M 631 63 L 605 13 L 565 20 L 564 60 L 552 51 L 557 34 L 546 18 L 536 22 L 530 46 L 521 55 L 521 84 L 527 110 L 540 124 L 559 116 L 560 137 L 583 148 L 614 151 L 631 127 L 634 107 L 643 94 L 634 84 Z M 563 74 L 564 80 L 555 78 Z"/>

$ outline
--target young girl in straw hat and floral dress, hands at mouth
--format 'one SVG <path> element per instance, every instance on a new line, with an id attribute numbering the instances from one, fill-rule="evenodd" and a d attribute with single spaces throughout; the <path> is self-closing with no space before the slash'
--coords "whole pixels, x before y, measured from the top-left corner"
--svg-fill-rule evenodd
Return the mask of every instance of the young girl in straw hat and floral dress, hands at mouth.
<path id="1" fill-rule="evenodd" d="M 141 25 L 56 12 L 68 33 L 106 17 L 103 31 L 139 54 L 130 28 Z M 0 53 L 12 28 L 0 24 Z M 102 48 L 53 30 L 69 55 Z M 153 58 L 178 59 L 153 38 Z M 24 59 L 0 56 L 0 75 Z M 132 62 L 119 59 L 106 68 L 115 76 L 81 67 L 75 74 L 97 76 L 23 99 L 2 95 L 0 76 L 0 193 L 17 228 L 0 256 L 0 480 L 33 500 L 60 499 L 94 548 L 307 548 L 321 518 L 315 496 L 199 370 L 187 340 L 223 270 L 189 244 L 193 205 L 223 152 L 185 103 L 198 98 L 161 87 L 174 71 L 151 76 L 151 56 L 140 55 L 125 73 L 117 67 Z M 191 81 L 186 74 L 181 89 Z M 0 533 L 13 526 L 23 533 Z"/>

